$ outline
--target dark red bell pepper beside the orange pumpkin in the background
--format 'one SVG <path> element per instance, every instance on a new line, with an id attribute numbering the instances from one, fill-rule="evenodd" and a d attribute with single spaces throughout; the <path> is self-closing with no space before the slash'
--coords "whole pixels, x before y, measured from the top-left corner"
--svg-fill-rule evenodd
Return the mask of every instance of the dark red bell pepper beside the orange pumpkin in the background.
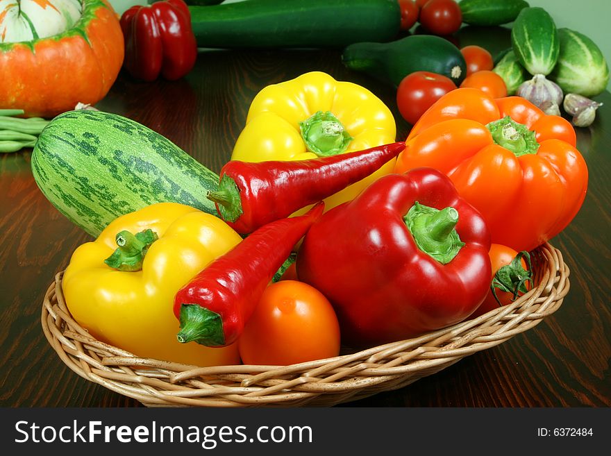
<path id="1" fill-rule="evenodd" d="M 135 5 L 121 17 L 125 38 L 124 66 L 137 79 L 182 78 L 195 65 L 197 44 L 191 14 L 183 0 Z"/>

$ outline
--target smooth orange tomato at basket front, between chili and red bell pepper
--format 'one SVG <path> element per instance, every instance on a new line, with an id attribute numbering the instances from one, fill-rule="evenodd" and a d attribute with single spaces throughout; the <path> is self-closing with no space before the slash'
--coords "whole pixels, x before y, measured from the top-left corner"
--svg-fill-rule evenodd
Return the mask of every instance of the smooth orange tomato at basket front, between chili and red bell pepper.
<path id="1" fill-rule="evenodd" d="M 340 324 L 314 287 L 281 280 L 265 289 L 238 340 L 244 364 L 285 366 L 340 353 Z"/>

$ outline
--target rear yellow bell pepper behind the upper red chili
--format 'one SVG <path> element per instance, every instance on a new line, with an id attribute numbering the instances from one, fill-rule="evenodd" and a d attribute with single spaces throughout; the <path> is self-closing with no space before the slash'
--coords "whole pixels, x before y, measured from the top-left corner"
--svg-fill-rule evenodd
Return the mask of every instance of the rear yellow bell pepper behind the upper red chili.
<path id="1" fill-rule="evenodd" d="M 330 114 L 329 114 L 330 113 Z M 305 160 L 369 149 L 395 141 L 392 112 L 360 85 L 312 71 L 268 85 L 253 99 L 232 160 Z M 353 199 L 393 170 L 391 160 L 374 174 L 325 200 L 326 210 Z"/>

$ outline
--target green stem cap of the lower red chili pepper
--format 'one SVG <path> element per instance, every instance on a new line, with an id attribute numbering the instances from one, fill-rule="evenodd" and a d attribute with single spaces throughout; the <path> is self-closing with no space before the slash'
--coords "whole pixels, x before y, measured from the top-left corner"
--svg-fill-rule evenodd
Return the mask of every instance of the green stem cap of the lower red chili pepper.
<path id="1" fill-rule="evenodd" d="M 181 330 L 176 339 L 181 344 L 196 341 L 206 346 L 224 346 L 223 321 L 217 312 L 197 304 L 181 305 Z"/>

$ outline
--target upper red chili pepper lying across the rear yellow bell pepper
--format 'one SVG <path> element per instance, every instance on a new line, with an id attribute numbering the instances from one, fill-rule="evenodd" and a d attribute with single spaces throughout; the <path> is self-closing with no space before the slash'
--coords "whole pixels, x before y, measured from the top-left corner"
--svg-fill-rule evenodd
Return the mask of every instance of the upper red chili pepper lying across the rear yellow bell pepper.
<path id="1" fill-rule="evenodd" d="M 231 228 L 252 233 L 366 178 L 403 149 L 404 142 L 395 142 L 310 160 L 231 160 L 221 169 L 219 191 L 208 198 Z"/>

